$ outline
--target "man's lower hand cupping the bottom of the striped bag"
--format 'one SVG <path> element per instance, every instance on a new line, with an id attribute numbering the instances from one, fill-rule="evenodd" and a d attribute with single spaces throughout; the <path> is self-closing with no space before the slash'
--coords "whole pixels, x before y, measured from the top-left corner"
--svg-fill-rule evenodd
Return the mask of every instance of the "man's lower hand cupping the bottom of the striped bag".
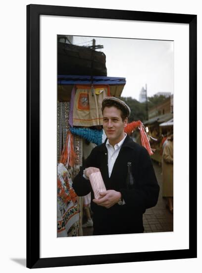
<path id="1" fill-rule="evenodd" d="M 93 202 L 97 205 L 104 206 L 106 208 L 118 203 L 121 198 L 121 193 L 114 190 L 108 190 L 106 192 L 100 192 L 100 199 L 93 199 Z"/>

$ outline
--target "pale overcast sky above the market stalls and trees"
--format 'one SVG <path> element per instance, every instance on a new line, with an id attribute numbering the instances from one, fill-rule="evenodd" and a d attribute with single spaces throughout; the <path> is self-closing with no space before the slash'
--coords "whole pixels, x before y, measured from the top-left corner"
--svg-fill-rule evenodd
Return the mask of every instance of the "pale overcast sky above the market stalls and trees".
<path id="1" fill-rule="evenodd" d="M 106 55 L 107 76 L 125 77 L 121 96 L 139 100 L 142 87 L 148 97 L 157 92 L 174 90 L 174 42 L 159 40 L 120 39 L 74 36 L 73 44 L 79 46 L 103 45 Z"/>

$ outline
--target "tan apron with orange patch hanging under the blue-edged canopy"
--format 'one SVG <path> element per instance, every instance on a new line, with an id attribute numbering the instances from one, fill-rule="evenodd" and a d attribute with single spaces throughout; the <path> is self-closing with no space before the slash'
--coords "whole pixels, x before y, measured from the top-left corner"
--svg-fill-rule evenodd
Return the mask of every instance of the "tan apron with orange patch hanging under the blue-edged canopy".
<path id="1" fill-rule="evenodd" d="M 73 126 L 91 127 L 102 125 L 101 102 L 110 96 L 108 85 L 76 86 L 73 109 Z"/>

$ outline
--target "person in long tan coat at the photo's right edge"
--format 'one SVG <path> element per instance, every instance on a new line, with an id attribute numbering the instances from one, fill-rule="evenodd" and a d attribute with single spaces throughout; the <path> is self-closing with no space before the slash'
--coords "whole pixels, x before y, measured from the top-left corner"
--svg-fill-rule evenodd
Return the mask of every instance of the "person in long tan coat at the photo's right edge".
<path id="1" fill-rule="evenodd" d="M 173 213 L 173 135 L 168 136 L 162 156 L 163 190 L 170 213 Z"/>

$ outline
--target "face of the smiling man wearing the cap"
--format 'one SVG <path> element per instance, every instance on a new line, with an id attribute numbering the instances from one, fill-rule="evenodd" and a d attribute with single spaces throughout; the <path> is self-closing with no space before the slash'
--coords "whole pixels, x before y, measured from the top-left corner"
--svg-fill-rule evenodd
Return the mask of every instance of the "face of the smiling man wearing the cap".
<path id="1" fill-rule="evenodd" d="M 114 106 L 105 107 L 103 110 L 103 129 L 110 142 L 115 145 L 124 137 L 124 127 L 128 123 L 128 118 L 122 121 L 121 110 Z"/>

